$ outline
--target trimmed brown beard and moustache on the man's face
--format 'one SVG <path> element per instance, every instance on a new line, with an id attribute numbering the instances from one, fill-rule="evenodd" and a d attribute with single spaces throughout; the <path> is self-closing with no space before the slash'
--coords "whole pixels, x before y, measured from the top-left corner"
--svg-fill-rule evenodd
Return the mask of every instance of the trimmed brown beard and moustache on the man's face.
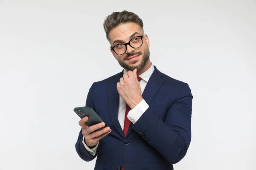
<path id="1" fill-rule="evenodd" d="M 134 52 L 134 53 L 129 53 L 127 54 L 122 60 L 121 59 L 117 59 L 117 61 L 119 62 L 119 65 L 124 68 L 127 71 L 133 71 L 135 68 L 137 68 L 137 71 L 140 71 L 141 69 L 143 69 L 146 65 L 146 63 L 148 62 L 149 56 L 150 56 L 150 52 L 149 52 L 149 48 L 147 47 L 144 50 L 144 54 L 142 56 L 142 60 L 138 65 L 129 65 L 125 63 L 125 60 L 127 60 L 129 57 L 134 56 L 134 55 L 142 55 L 143 53 L 141 51 L 138 52 Z M 136 64 L 137 60 L 131 62 L 131 64 Z"/>

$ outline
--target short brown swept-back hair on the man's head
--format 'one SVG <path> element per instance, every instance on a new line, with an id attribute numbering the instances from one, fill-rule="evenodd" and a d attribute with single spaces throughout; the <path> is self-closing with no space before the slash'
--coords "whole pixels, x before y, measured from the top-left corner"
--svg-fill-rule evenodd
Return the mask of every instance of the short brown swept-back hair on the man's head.
<path id="1" fill-rule="evenodd" d="M 104 30 L 106 32 L 106 37 L 109 40 L 109 32 L 119 26 L 122 23 L 137 23 L 140 28 L 143 30 L 143 21 L 137 14 L 129 11 L 122 11 L 122 12 L 113 12 L 111 15 L 108 15 L 103 23 Z"/>

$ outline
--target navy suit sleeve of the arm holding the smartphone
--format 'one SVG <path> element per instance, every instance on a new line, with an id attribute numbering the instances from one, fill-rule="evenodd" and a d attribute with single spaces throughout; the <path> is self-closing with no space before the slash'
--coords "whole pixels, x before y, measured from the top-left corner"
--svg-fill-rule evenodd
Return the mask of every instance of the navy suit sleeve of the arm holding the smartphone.
<path id="1" fill-rule="evenodd" d="M 95 110 L 94 102 L 93 102 L 93 86 L 94 86 L 94 84 L 95 83 L 93 83 L 93 85 L 89 89 L 87 99 L 86 99 L 86 104 L 85 104 L 86 106 L 90 106 L 91 108 L 93 108 L 93 110 Z M 92 155 L 84 147 L 82 130 L 80 130 L 79 136 L 78 136 L 78 139 L 76 142 L 76 152 L 78 153 L 80 158 L 83 159 L 84 161 L 91 161 L 97 156 L 97 150 L 96 150 L 96 153 Z"/>

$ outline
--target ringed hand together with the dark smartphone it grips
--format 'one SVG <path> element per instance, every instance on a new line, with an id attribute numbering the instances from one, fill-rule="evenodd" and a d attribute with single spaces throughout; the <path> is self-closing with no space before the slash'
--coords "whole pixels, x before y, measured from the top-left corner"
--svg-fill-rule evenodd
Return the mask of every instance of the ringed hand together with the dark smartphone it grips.
<path id="1" fill-rule="evenodd" d="M 82 128 L 84 142 L 88 147 L 95 147 L 100 139 L 111 133 L 110 127 L 106 127 L 105 123 L 92 108 L 85 106 L 74 108 L 74 111 L 81 118 L 79 125 Z"/>

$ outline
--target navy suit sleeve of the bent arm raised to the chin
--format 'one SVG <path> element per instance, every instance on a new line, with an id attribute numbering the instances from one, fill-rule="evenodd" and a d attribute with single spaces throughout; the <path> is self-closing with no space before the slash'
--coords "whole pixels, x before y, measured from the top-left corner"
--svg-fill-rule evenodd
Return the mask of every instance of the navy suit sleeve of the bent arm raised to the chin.
<path id="1" fill-rule="evenodd" d="M 192 94 L 184 83 L 166 114 L 160 119 L 150 107 L 132 128 L 143 137 L 170 164 L 179 162 L 186 155 L 191 141 Z"/>

